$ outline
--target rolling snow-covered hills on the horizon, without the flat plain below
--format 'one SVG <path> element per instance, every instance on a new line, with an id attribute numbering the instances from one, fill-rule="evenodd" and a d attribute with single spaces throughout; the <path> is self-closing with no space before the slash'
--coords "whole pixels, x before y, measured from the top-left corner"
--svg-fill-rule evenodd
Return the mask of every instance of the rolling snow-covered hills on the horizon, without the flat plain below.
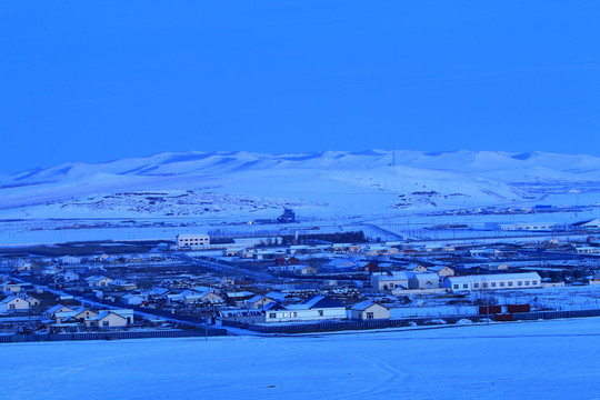
<path id="1" fill-rule="evenodd" d="M 68 162 L 0 178 L 0 217 L 263 218 L 519 204 L 600 189 L 591 156 L 369 150 L 181 152 Z"/>

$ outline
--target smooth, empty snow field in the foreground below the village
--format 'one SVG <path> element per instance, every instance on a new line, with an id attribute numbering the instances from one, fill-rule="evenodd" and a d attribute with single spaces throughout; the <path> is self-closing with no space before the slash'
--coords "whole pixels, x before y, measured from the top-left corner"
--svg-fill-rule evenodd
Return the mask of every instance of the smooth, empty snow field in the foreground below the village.
<path id="1" fill-rule="evenodd" d="M 0 399 L 596 399 L 600 319 L 0 346 Z"/>

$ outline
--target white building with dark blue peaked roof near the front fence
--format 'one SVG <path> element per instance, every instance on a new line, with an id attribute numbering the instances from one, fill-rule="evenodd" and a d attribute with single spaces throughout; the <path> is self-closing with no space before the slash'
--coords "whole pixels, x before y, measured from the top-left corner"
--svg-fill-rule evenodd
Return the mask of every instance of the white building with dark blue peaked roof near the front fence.
<path id="1" fill-rule="evenodd" d="M 297 322 L 346 319 L 346 307 L 324 296 L 314 296 L 300 304 L 283 306 L 279 302 L 264 307 L 266 322 Z"/>

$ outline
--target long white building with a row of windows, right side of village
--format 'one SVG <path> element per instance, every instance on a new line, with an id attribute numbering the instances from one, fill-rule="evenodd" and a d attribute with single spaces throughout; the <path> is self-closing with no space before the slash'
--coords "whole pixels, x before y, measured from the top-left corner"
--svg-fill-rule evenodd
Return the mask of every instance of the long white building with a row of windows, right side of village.
<path id="1" fill-rule="evenodd" d="M 541 278 L 537 272 L 446 277 L 443 287 L 452 292 L 532 289 L 541 288 Z"/>

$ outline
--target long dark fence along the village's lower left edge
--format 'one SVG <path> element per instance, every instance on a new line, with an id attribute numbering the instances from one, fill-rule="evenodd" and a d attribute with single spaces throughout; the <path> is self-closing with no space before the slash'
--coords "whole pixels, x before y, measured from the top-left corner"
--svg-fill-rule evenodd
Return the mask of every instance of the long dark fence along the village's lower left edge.
<path id="1" fill-rule="evenodd" d="M 6 334 L 0 336 L 0 343 L 40 342 L 40 341 L 77 341 L 77 340 L 114 340 L 114 339 L 150 339 L 150 338 L 203 338 L 227 336 L 226 329 L 209 328 L 198 330 L 152 330 L 152 331 L 107 331 L 82 333 L 49 334 Z"/>

